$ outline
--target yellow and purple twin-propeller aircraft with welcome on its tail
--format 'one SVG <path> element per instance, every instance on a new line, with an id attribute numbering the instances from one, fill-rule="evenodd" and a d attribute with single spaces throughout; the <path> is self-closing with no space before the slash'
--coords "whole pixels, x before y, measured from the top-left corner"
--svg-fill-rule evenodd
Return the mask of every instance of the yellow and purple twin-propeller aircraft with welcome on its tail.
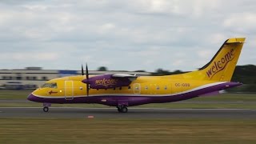
<path id="1" fill-rule="evenodd" d="M 86 74 L 55 78 L 34 90 L 28 100 L 42 102 L 47 112 L 51 103 L 99 103 L 116 106 L 126 113 L 127 106 L 177 102 L 242 85 L 230 82 L 246 38 L 230 38 L 214 58 L 201 69 L 186 74 L 141 76 L 130 74 Z"/>

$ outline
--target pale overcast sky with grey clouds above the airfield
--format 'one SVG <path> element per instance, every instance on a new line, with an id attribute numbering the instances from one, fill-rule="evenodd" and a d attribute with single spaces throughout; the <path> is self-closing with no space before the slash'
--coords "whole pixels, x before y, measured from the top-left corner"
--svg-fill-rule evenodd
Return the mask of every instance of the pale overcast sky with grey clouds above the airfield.
<path id="1" fill-rule="evenodd" d="M 1 0 L 0 69 L 196 70 L 227 38 L 256 65 L 254 0 Z"/>

